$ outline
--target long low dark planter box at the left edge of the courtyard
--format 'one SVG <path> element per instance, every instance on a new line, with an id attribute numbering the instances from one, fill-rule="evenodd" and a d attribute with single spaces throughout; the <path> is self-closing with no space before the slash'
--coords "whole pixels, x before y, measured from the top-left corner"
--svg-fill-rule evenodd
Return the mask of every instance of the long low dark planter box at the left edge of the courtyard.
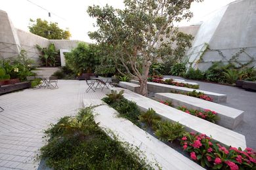
<path id="1" fill-rule="evenodd" d="M 4 93 L 13 92 L 16 90 L 22 90 L 24 88 L 30 88 L 30 82 L 18 82 L 16 84 L 8 84 L 0 87 L 0 95 Z"/>

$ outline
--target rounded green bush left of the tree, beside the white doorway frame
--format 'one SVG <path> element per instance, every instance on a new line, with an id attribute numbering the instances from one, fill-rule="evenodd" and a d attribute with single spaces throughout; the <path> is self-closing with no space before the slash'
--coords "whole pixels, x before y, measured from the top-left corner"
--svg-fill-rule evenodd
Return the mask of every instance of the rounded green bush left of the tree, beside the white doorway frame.
<path id="1" fill-rule="evenodd" d="M 96 65 L 99 65 L 97 46 L 79 42 L 77 47 L 65 54 L 66 65 L 74 73 L 94 73 Z"/>

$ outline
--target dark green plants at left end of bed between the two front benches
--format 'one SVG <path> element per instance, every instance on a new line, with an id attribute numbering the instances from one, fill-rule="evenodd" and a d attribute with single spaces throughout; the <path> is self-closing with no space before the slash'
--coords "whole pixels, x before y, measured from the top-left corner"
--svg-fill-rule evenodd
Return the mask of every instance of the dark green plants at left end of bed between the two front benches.
<path id="1" fill-rule="evenodd" d="M 121 117 L 127 118 L 133 122 L 133 124 L 140 126 L 138 121 L 140 109 L 137 107 L 136 103 L 125 99 L 123 97 L 123 90 L 119 93 L 117 93 L 116 90 L 112 90 L 111 92 L 112 93 L 108 94 L 108 97 L 104 97 L 102 101 L 116 109 Z"/>

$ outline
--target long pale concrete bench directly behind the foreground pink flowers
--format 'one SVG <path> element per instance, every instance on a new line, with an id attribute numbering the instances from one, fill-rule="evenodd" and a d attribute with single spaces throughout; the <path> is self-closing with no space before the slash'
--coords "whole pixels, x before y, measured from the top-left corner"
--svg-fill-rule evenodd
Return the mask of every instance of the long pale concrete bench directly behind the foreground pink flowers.
<path id="1" fill-rule="evenodd" d="M 123 90 L 122 88 L 116 88 L 117 91 Z M 220 143 L 226 144 L 227 146 L 246 148 L 246 142 L 244 135 L 226 129 L 217 124 L 213 124 L 209 121 L 203 120 L 191 114 L 182 112 L 181 110 L 175 109 L 164 105 L 158 101 L 154 101 L 148 97 L 144 97 L 137 93 L 125 90 L 123 94 L 129 101 L 137 103 L 139 108 L 146 111 L 150 108 L 154 109 L 156 113 L 164 119 L 170 120 L 171 122 L 179 122 L 186 127 L 188 131 L 197 131 L 207 136 L 212 136 L 213 139 Z"/>

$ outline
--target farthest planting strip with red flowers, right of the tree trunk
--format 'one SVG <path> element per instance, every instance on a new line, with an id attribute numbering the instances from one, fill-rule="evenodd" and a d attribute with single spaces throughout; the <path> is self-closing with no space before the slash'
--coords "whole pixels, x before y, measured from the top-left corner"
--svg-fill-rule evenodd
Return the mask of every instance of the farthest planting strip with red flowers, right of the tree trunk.
<path id="1" fill-rule="evenodd" d="M 188 83 L 183 83 L 183 82 L 175 82 L 173 79 L 163 79 L 162 76 L 154 75 L 148 77 L 149 82 L 157 82 L 161 84 L 169 84 L 172 86 L 179 86 L 179 87 L 185 87 L 185 88 L 194 88 L 198 89 L 199 85 L 194 85 L 194 84 L 188 84 Z"/>

